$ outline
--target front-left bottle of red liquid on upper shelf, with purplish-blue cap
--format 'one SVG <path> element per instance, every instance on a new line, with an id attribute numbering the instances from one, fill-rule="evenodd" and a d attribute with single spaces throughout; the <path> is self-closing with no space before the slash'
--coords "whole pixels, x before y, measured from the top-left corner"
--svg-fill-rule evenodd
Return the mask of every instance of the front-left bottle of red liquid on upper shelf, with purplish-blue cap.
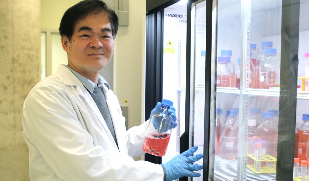
<path id="1" fill-rule="evenodd" d="M 229 57 L 218 57 L 217 69 L 217 86 L 218 87 L 231 87 L 231 69 L 228 67 L 230 63 Z"/>

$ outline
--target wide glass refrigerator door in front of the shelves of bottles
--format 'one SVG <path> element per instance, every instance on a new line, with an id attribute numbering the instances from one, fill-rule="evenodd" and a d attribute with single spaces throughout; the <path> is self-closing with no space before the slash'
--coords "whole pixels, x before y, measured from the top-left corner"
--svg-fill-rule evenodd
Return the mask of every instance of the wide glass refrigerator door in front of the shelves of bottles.
<path id="1" fill-rule="evenodd" d="M 282 130 L 295 126 L 294 122 L 286 126 L 283 116 L 282 124 L 278 124 L 279 115 L 293 109 L 284 105 L 281 97 L 288 85 L 282 82 L 290 81 L 281 79 L 281 71 L 291 65 L 289 61 L 281 64 L 289 60 L 281 57 L 281 47 L 289 45 L 281 42 L 282 11 L 291 4 L 283 5 L 281 0 L 216 3 L 216 48 L 212 57 L 216 65 L 216 114 L 211 120 L 215 126 L 210 137 L 210 148 L 214 148 L 210 178 L 276 180 L 277 166 L 281 166 L 277 161 L 294 157 L 292 154 L 290 159 L 283 158 L 281 153 L 285 151 L 278 147 L 278 143 L 286 142 L 285 137 L 278 141 L 278 132 L 284 135 Z M 294 98 L 296 94 L 290 96 Z"/>

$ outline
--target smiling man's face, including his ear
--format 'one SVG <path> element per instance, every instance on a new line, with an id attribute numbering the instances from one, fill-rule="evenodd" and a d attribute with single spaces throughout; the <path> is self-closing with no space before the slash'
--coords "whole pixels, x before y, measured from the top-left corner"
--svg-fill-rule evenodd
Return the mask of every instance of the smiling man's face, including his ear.
<path id="1" fill-rule="evenodd" d="M 84 74 L 98 73 L 112 58 L 114 39 L 112 26 L 104 13 L 90 13 L 75 24 L 71 42 L 61 37 L 68 52 L 69 66 Z"/>

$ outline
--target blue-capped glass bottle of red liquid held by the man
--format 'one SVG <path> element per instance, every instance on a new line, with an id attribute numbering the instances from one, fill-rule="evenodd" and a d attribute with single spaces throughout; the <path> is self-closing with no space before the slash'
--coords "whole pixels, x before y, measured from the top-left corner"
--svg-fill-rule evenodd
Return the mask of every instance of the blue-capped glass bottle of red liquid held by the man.
<path id="1" fill-rule="evenodd" d="M 151 116 L 142 148 L 146 153 L 159 157 L 165 155 L 174 125 L 173 118 L 167 112 L 172 105 L 172 101 L 163 99 L 161 112 Z"/>

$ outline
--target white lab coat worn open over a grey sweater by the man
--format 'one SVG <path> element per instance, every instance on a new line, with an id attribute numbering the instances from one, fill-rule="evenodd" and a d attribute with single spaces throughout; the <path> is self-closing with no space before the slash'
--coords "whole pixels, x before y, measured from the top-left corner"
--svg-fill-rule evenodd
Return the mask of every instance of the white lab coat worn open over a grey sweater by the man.
<path id="1" fill-rule="evenodd" d="M 116 95 L 105 86 L 104 95 L 119 150 L 91 95 L 64 65 L 30 91 L 22 122 L 31 180 L 163 180 L 162 166 L 133 160 L 145 153 L 149 121 L 125 131 Z"/>

